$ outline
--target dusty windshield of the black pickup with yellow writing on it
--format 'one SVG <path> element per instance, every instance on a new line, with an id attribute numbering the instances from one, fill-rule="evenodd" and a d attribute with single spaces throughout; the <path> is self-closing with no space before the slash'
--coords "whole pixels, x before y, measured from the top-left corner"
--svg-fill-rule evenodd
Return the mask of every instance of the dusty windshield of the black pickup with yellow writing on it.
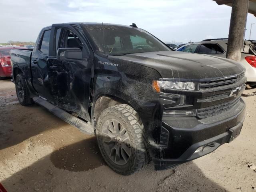
<path id="1" fill-rule="evenodd" d="M 142 29 L 115 25 L 85 25 L 84 29 L 104 54 L 170 51 L 166 45 Z"/>

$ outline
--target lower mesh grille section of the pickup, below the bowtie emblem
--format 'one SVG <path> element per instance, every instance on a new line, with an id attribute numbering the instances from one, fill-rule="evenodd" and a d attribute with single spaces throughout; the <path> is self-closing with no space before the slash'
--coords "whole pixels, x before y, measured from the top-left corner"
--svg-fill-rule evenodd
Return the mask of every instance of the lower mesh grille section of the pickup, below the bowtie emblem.
<path id="1" fill-rule="evenodd" d="M 210 116 L 218 115 L 220 113 L 223 113 L 223 112 L 231 109 L 236 104 L 238 104 L 238 102 L 240 102 L 240 97 L 235 101 L 233 100 L 231 102 L 223 103 L 223 104 L 220 104 L 217 106 L 198 109 L 196 116 L 200 119 L 203 119 L 203 118 L 207 118 Z"/>

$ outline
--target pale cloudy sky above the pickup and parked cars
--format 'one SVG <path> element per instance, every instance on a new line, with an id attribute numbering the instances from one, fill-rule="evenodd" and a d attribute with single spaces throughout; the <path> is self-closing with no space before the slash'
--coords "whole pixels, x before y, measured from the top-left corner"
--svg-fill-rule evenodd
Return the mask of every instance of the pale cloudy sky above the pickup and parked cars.
<path id="1" fill-rule="evenodd" d="M 164 42 L 227 38 L 231 7 L 212 0 L 0 0 L 0 43 L 36 41 L 45 26 L 65 22 L 136 23 Z M 256 39 L 248 14 L 245 38 Z"/>

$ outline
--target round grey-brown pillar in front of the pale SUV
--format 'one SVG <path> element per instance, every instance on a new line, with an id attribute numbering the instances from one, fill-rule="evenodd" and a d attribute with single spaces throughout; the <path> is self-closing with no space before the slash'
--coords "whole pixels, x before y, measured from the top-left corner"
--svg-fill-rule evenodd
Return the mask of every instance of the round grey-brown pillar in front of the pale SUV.
<path id="1" fill-rule="evenodd" d="M 228 59 L 241 60 L 241 47 L 244 42 L 248 5 L 249 0 L 233 0 L 226 54 Z"/>

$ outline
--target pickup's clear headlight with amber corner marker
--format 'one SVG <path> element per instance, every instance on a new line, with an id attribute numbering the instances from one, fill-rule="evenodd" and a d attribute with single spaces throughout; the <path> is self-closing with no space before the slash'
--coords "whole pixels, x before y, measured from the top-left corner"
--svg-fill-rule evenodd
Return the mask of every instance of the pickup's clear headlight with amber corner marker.
<path id="1" fill-rule="evenodd" d="M 195 84 L 193 82 L 154 80 L 152 86 L 158 93 L 160 92 L 160 89 L 195 90 Z"/>

